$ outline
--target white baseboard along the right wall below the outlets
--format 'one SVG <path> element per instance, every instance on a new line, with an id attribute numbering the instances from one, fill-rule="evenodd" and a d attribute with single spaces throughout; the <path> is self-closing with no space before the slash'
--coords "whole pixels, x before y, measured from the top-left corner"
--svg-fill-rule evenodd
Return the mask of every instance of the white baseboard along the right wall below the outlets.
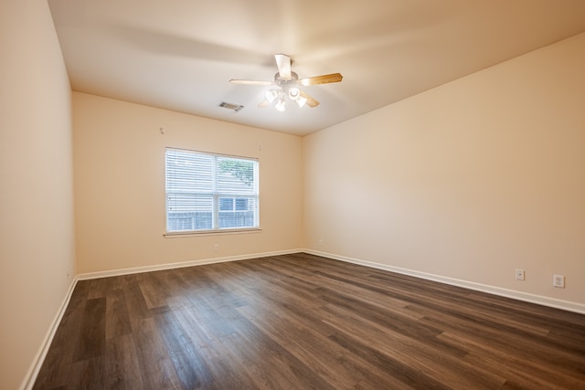
<path id="1" fill-rule="evenodd" d="M 358 264 L 361 266 L 370 267 L 373 269 L 384 269 L 399 274 L 409 275 L 420 279 L 429 279 L 438 281 L 440 283 L 451 284 L 452 286 L 463 287 L 465 289 L 483 291 L 494 295 L 499 295 L 506 298 L 512 298 L 514 300 L 523 300 L 530 303 L 537 303 L 539 305 L 548 306 L 556 309 L 565 311 L 574 311 L 581 314 L 585 314 L 585 304 L 572 302 L 570 300 L 558 300 L 555 298 L 545 297 L 543 295 L 531 294 L 528 292 L 516 291 L 503 289 L 501 287 L 490 286 L 482 283 L 476 283 L 473 281 L 467 281 L 463 279 L 448 278 L 441 275 L 435 275 L 426 272 L 420 272 L 413 269 L 403 269 L 399 267 L 388 266 L 387 264 L 376 263 L 372 261 L 366 261 L 359 258 L 348 258 L 346 256 L 339 256 L 333 253 L 325 253 L 312 249 L 304 249 L 303 252 L 311 255 L 323 256 L 324 258 L 334 258 L 335 260 L 346 261 L 348 263 Z"/>

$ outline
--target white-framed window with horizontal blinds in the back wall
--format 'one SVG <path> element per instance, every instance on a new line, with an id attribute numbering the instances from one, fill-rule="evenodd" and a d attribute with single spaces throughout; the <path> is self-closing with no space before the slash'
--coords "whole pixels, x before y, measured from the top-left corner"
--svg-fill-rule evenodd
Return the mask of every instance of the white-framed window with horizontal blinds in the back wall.
<path id="1" fill-rule="evenodd" d="M 166 149 L 166 231 L 260 227 L 258 161 Z"/>

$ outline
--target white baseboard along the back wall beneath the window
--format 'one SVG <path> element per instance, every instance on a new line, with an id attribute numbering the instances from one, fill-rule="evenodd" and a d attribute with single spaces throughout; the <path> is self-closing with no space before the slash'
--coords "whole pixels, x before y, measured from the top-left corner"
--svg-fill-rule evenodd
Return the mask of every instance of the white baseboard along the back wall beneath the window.
<path id="1" fill-rule="evenodd" d="M 201 260 L 188 260 L 176 263 L 156 264 L 153 266 L 134 267 L 132 269 L 112 269 L 107 271 L 89 272 L 78 275 L 79 280 L 107 278 L 111 276 L 129 275 L 133 273 L 158 271 L 163 269 L 180 269 L 185 267 L 202 266 L 205 264 L 225 263 L 226 261 L 247 260 L 249 258 L 267 258 L 269 256 L 288 255 L 303 252 L 303 249 L 279 250 L 274 252 L 253 253 L 248 255 L 229 256 L 226 258 L 204 258 Z"/>

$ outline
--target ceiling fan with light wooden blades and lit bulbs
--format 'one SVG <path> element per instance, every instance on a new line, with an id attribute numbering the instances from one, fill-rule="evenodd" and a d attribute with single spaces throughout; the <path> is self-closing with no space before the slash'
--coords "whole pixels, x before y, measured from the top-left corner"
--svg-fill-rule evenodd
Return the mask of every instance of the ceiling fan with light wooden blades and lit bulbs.
<path id="1" fill-rule="evenodd" d="M 270 90 L 266 90 L 264 100 L 258 105 L 263 108 L 276 101 L 274 108 L 278 111 L 286 109 L 286 97 L 295 101 L 299 107 L 305 104 L 311 108 L 317 107 L 319 101 L 308 95 L 299 86 L 306 87 L 317 84 L 327 84 L 330 82 L 339 82 L 343 79 L 340 73 L 332 73 L 329 75 L 314 76 L 305 79 L 299 79 L 299 75 L 291 70 L 291 58 L 286 54 L 275 54 L 276 67 L 278 73 L 274 75 L 273 81 L 254 81 L 248 79 L 230 79 L 229 82 L 238 85 L 265 85 L 272 86 Z"/>

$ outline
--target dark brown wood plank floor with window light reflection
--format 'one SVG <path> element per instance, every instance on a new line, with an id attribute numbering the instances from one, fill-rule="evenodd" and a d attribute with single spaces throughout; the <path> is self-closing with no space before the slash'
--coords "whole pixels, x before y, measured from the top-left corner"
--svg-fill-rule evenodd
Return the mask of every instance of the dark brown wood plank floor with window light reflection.
<path id="1" fill-rule="evenodd" d="M 585 389 L 585 315 L 307 254 L 78 282 L 37 389 Z"/>

